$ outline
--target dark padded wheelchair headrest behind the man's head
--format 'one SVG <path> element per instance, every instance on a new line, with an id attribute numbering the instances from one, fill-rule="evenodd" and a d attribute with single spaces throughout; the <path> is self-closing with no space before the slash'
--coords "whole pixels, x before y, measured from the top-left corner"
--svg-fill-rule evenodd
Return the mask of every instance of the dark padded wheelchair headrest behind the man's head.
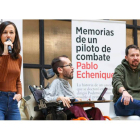
<path id="1" fill-rule="evenodd" d="M 47 80 L 52 78 L 55 73 L 53 72 L 53 69 L 49 69 L 49 70 L 45 70 L 44 68 L 41 70 L 42 75 L 44 76 L 44 78 L 46 78 Z"/>

